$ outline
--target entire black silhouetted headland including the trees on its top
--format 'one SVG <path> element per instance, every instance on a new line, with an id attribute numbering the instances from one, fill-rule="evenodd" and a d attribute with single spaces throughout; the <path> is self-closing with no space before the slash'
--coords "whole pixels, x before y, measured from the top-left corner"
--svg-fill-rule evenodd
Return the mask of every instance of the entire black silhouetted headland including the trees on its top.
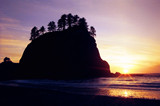
<path id="1" fill-rule="evenodd" d="M 18 78 L 79 79 L 113 76 L 109 64 L 102 60 L 86 19 L 63 14 L 57 25 L 49 22 L 31 30 L 31 43 L 26 47 L 14 75 Z"/>

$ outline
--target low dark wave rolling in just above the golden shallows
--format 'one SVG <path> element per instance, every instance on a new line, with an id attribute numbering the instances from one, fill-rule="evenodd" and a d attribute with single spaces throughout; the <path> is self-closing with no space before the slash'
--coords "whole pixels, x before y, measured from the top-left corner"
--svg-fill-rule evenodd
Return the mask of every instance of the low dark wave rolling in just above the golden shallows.
<path id="1" fill-rule="evenodd" d="M 114 89 L 136 89 L 136 90 L 156 90 L 160 91 L 160 83 L 132 83 L 132 84 L 104 84 L 104 83 L 84 83 L 79 81 L 53 81 L 53 80 L 12 80 L 1 82 L 1 85 L 36 87 L 45 89 L 55 88 L 114 88 Z"/>

